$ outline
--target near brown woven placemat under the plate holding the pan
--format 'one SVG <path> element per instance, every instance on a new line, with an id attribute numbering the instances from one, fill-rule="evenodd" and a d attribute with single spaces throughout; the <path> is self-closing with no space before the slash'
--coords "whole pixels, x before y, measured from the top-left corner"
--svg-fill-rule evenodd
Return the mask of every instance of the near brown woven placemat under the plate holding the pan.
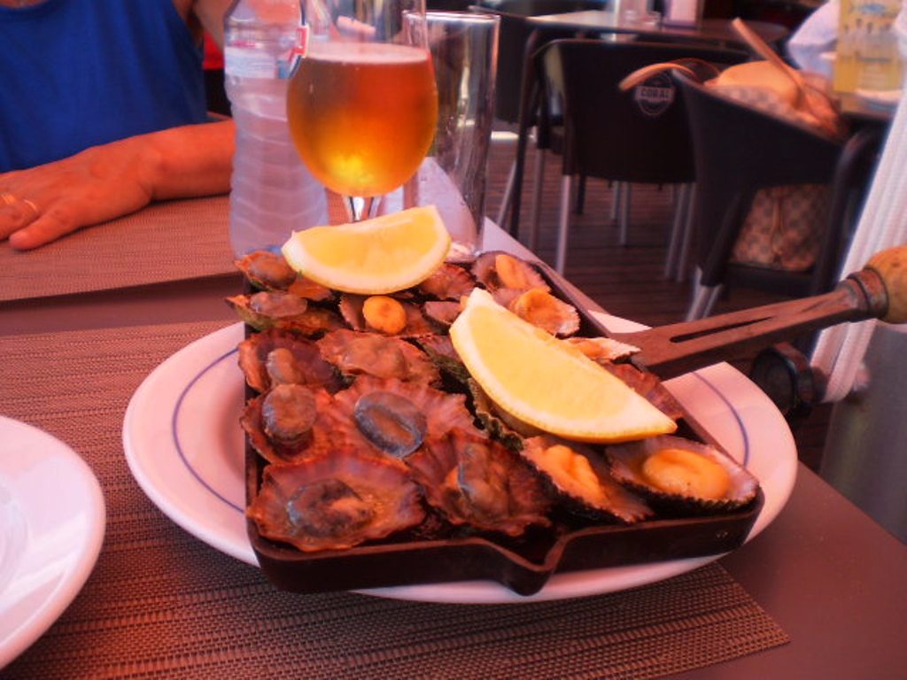
<path id="1" fill-rule="evenodd" d="M 560 602 L 457 606 L 293 595 L 164 517 L 123 458 L 151 369 L 216 324 L 0 338 L 2 413 L 69 443 L 107 502 L 101 557 L 5 678 L 641 678 L 787 641 L 717 564 Z"/>

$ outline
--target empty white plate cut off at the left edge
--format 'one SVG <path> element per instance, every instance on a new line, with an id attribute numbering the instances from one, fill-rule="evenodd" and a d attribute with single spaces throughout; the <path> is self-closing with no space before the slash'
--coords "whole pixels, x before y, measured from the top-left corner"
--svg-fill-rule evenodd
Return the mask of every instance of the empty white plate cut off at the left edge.
<path id="1" fill-rule="evenodd" d="M 66 444 L 0 416 L 0 668 L 44 634 L 92 573 L 101 487 Z"/>

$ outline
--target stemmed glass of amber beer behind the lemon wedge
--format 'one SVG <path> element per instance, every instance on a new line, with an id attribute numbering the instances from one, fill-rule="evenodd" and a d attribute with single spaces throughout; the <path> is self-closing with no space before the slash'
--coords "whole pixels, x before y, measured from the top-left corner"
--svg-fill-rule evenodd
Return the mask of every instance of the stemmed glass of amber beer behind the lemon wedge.
<path id="1" fill-rule="evenodd" d="M 349 218 L 413 175 L 438 115 L 424 31 L 405 30 L 424 0 L 304 0 L 307 41 L 287 114 L 299 156 Z M 408 21 L 412 21 L 409 19 Z"/>

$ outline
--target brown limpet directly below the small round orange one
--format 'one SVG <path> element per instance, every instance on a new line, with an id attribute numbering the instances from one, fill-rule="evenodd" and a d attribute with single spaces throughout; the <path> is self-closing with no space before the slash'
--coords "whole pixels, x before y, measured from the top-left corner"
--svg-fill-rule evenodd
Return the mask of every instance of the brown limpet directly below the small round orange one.
<path id="1" fill-rule="evenodd" d="M 327 362 L 347 375 L 369 374 L 425 384 L 441 382 L 441 374 L 431 359 L 398 337 L 341 328 L 317 340 L 317 348 Z"/>

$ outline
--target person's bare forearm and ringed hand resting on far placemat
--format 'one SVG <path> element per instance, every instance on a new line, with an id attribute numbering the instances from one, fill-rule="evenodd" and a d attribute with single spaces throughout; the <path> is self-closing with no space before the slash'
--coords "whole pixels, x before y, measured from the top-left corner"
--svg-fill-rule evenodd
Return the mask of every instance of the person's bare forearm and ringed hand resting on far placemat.
<path id="1" fill-rule="evenodd" d="M 151 200 L 229 191 L 232 121 L 186 125 L 0 175 L 0 239 L 37 248 Z"/>

